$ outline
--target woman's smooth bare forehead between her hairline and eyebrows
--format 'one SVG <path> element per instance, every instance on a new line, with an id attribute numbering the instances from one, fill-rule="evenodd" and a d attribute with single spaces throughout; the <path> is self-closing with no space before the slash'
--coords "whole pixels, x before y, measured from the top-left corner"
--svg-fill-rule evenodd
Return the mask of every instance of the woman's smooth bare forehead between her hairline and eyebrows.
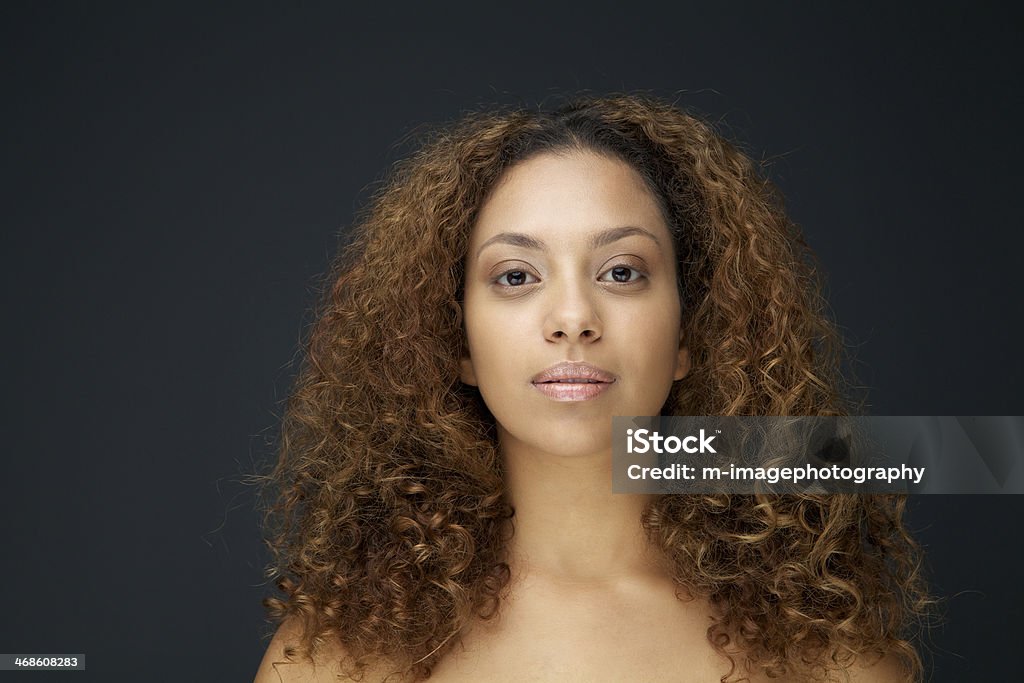
<path id="1" fill-rule="evenodd" d="M 543 153 L 502 176 L 480 208 L 470 244 L 504 231 L 570 240 L 621 226 L 669 239 L 660 205 L 639 173 L 594 152 Z"/>

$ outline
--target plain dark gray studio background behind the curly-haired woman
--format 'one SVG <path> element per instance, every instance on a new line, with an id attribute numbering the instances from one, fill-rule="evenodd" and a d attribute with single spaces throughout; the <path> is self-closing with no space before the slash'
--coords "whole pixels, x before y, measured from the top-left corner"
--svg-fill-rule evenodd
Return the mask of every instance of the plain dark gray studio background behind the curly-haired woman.
<path id="1" fill-rule="evenodd" d="M 771 160 L 876 414 L 1024 414 L 1020 10 L 372 4 L 0 6 L 0 652 L 88 661 L 0 681 L 252 679 L 238 479 L 314 279 L 395 142 L 480 103 L 682 93 Z M 911 505 L 932 680 L 1016 678 L 1024 499 Z"/>

